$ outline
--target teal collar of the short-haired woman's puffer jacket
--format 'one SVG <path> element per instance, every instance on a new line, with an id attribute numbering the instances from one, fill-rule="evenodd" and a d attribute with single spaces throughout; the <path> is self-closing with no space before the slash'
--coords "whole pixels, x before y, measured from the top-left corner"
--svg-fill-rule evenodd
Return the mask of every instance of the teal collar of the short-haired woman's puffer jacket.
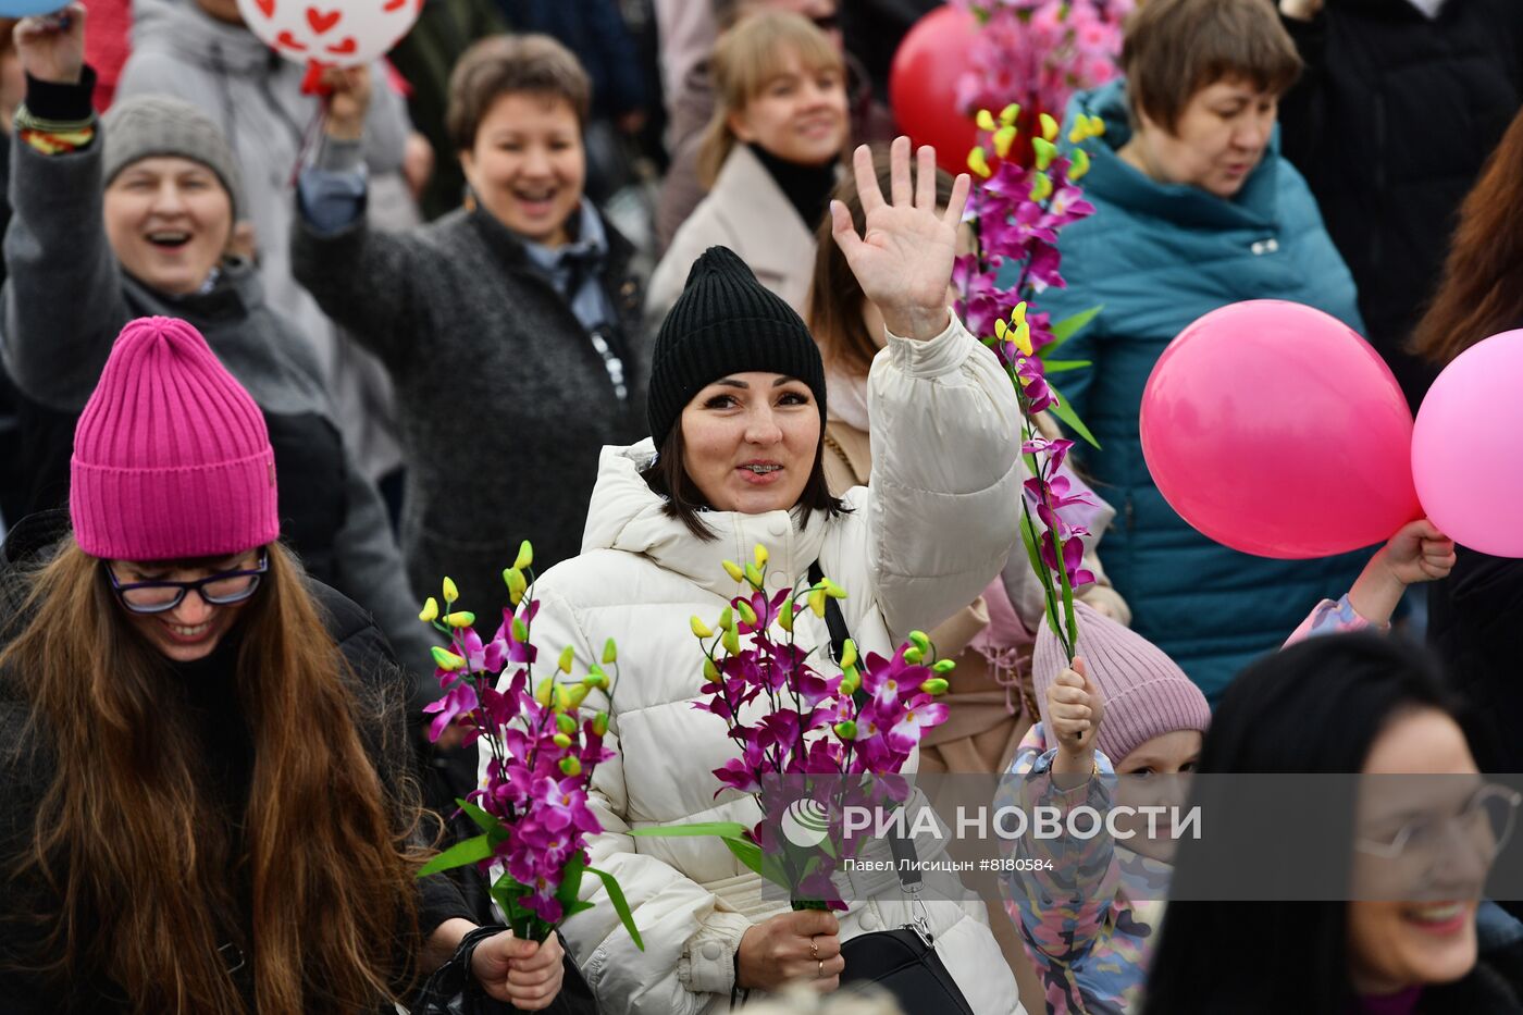
<path id="1" fill-rule="evenodd" d="M 1279 128 L 1270 137 L 1264 158 L 1231 198 L 1220 198 L 1200 187 L 1157 183 L 1116 152 L 1132 139 L 1125 81 L 1116 79 L 1069 101 L 1068 119 L 1077 113 L 1100 116 L 1106 122 L 1103 143 L 1090 149 L 1090 172 L 1083 181 L 1090 197 L 1113 206 L 1159 218 L 1176 226 L 1203 230 L 1275 229 L 1279 219 Z M 1066 130 L 1065 130 L 1066 133 Z"/>

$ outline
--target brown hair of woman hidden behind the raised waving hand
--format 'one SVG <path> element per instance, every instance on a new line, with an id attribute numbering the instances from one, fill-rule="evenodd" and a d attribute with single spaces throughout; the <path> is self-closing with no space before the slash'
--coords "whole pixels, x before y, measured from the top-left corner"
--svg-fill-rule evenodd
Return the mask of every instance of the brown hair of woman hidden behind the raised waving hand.
<path id="1" fill-rule="evenodd" d="M 877 174 L 877 186 L 888 194 L 892 186 L 889 171 L 888 145 L 873 145 L 873 171 Z M 920 169 L 914 169 L 912 180 Z M 836 184 L 832 198 L 847 206 L 851 221 L 860 233 L 867 226 L 867 215 L 862 212 L 862 195 L 856 189 L 856 175 L 845 174 Z M 937 169 L 937 204 L 946 207 L 952 203 L 952 175 L 944 169 Z M 830 216 L 819 224 L 815 232 L 815 274 L 809 283 L 809 331 L 819 346 L 825 367 L 839 367 L 854 376 L 867 376 L 877 355 L 877 343 L 867 332 L 862 320 L 862 305 L 867 296 L 862 294 L 862 283 L 847 264 L 841 245 L 832 236 Z"/>

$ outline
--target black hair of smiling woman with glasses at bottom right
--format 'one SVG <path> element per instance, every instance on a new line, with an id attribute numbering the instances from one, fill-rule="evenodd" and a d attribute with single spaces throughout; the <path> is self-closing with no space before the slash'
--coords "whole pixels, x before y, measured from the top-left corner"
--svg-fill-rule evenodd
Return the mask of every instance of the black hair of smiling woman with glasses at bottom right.
<path id="1" fill-rule="evenodd" d="M 1211 719 L 1196 771 L 1359 773 L 1380 733 L 1413 709 L 1462 713 L 1419 648 L 1372 634 L 1314 637 L 1249 666 Z M 1467 730 L 1468 733 L 1468 730 Z M 1191 805 L 1226 829 L 1179 847 L 1176 890 L 1220 850 L 1241 857 L 1261 835 L 1263 815 L 1234 808 L 1234 796 L 1197 780 Z M 1334 802 L 1313 840 L 1317 857 L 1292 852 L 1287 876 L 1307 863 L 1352 875 L 1354 789 Z M 1263 850 L 1258 850 L 1263 852 Z M 1272 878 L 1276 872 L 1267 872 Z M 1267 892 L 1266 895 L 1272 895 Z M 1346 902 L 1170 902 L 1148 974 L 1145 1015 L 1342 1015 L 1354 989 L 1348 972 Z M 1293 969 L 1295 975 L 1285 975 Z"/>

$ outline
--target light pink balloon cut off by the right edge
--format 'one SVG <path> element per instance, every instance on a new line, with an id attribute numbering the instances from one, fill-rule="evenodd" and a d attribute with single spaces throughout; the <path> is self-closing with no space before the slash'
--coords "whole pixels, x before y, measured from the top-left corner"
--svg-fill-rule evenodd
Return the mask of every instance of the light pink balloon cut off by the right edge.
<path id="1" fill-rule="evenodd" d="M 1412 433 L 1412 477 L 1447 536 L 1523 558 L 1523 331 L 1454 357 L 1433 381 Z"/>

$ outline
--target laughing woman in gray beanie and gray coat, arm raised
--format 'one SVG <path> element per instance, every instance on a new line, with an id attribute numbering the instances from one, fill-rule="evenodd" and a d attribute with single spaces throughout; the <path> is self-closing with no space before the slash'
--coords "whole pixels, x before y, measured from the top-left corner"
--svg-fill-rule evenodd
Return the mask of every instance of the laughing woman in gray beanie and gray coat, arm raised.
<path id="1" fill-rule="evenodd" d="M 67 27 L 62 27 L 67 24 Z M 375 486 L 355 466 L 308 343 L 231 256 L 238 165 L 218 130 L 172 99 L 90 110 L 84 9 L 17 29 L 27 70 L 12 145 L 0 352 L 18 402 L 21 511 L 62 504 L 75 421 L 122 326 L 183 317 L 265 415 L 286 495 L 286 541 L 308 573 L 375 614 L 408 666 L 429 642 Z"/>

